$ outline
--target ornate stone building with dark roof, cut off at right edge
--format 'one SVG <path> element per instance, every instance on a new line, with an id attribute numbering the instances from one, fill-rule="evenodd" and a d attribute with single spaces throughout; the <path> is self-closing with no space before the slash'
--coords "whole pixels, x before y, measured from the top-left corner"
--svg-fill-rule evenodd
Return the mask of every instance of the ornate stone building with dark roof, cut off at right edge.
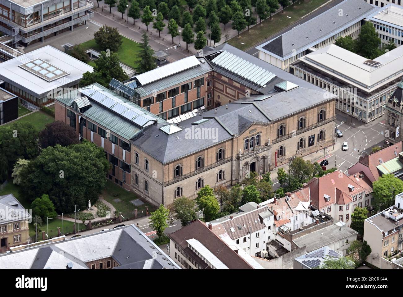
<path id="1" fill-rule="evenodd" d="M 393 145 L 403 140 L 401 127 L 403 116 L 403 78 L 397 85 L 396 90 L 388 98 L 384 109 L 387 111 L 387 126 L 384 133 L 385 144 Z"/>

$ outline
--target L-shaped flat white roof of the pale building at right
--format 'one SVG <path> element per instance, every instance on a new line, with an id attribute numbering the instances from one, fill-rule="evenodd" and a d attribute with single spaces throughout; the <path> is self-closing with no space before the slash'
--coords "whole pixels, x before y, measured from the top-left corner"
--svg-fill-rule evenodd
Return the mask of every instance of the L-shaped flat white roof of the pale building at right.
<path id="1" fill-rule="evenodd" d="M 348 81 L 350 84 L 370 91 L 396 79 L 403 73 L 403 46 L 385 53 L 374 59 L 378 67 L 368 65 L 368 59 L 345 50 L 335 44 L 330 44 L 300 58 L 308 65 Z"/>

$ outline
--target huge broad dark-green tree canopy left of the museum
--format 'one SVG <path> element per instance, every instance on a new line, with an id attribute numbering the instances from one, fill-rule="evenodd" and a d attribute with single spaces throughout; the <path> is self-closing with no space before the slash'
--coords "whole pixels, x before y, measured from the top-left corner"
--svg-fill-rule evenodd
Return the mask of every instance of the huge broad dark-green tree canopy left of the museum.
<path id="1" fill-rule="evenodd" d="M 21 196 L 28 200 L 46 193 L 59 213 L 74 205 L 96 202 L 110 163 L 102 147 L 87 140 L 80 144 L 47 147 L 21 173 Z"/>

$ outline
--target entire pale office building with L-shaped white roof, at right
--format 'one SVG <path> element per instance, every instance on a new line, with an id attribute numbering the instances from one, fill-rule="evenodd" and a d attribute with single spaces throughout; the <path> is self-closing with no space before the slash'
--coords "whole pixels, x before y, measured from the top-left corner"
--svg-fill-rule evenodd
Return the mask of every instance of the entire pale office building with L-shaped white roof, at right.
<path id="1" fill-rule="evenodd" d="M 338 96 L 336 108 L 370 122 L 386 114 L 386 99 L 403 74 L 403 47 L 368 60 L 334 44 L 301 57 L 290 72 Z"/>

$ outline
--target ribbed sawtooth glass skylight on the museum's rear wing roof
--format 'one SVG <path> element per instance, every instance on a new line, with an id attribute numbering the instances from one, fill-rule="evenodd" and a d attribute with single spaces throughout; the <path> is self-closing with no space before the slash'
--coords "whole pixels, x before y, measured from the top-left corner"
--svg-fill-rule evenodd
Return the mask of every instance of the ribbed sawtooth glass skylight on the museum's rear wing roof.
<path id="1" fill-rule="evenodd" d="M 276 77 L 272 72 L 227 51 L 212 59 L 212 63 L 259 86 L 265 86 Z"/>

